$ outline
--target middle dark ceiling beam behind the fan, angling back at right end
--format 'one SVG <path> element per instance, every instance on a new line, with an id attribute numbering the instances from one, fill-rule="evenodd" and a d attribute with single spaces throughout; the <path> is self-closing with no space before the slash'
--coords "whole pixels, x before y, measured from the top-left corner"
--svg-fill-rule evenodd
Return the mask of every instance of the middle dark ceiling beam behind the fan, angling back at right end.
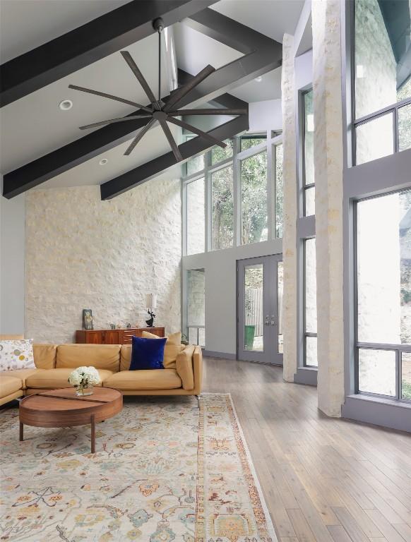
<path id="1" fill-rule="evenodd" d="M 167 4 L 168 2 L 169 0 L 166 0 Z M 153 3 L 156 4 L 156 2 Z M 212 73 L 184 97 L 181 103 L 183 107 L 185 105 L 191 105 L 192 107 L 215 100 L 222 93 L 227 92 L 227 89 L 246 83 L 281 65 L 281 44 L 221 15 L 217 11 L 205 9 L 201 13 L 196 13 L 195 20 L 193 18 L 185 19 L 184 23 L 193 25 L 194 28 L 201 30 L 201 32 L 210 33 L 222 43 L 227 42 L 227 35 L 236 36 L 235 40 L 244 36 L 244 43 L 246 44 L 244 47 L 251 52 L 247 52 L 241 59 L 227 64 L 227 66 L 222 66 L 222 68 Z M 192 78 L 192 76 L 186 74 L 186 78 Z M 184 84 L 186 80 L 181 82 Z M 168 97 L 163 98 L 164 101 L 167 99 Z M 137 110 L 132 112 L 131 115 L 140 113 L 141 110 Z M 78 164 L 100 155 L 106 150 L 124 143 L 124 141 L 130 140 L 133 133 L 144 126 L 146 122 L 145 119 L 141 119 L 110 124 L 72 143 L 68 143 L 64 147 L 49 152 L 49 154 L 35 159 L 29 164 L 6 173 L 3 178 L 3 195 L 6 198 L 13 198 L 64 171 L 76 167 Z"/>

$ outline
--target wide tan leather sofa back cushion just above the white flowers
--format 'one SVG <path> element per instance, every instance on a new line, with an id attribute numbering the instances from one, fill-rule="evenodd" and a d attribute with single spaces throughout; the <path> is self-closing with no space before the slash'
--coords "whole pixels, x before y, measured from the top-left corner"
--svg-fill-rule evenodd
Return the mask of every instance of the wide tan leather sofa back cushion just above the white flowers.
<path id="1" fill-rule="evenodd" d="M 119 371 L 119 344 L 59 344 L 57 347 L 56 368 L 75 369 L 93 366 L 96 369 Z"/>

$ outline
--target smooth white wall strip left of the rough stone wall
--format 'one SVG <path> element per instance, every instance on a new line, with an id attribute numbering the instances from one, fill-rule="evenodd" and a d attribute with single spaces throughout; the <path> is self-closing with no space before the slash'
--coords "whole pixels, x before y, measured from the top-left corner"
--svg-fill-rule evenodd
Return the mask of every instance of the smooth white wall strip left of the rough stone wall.
<path id="1" fill-rule="evenodd" d="M 3 179 L 1 177 L 1 192 Z M 25 196 L 0 195 L 0 334 L 25 331 Z"/>

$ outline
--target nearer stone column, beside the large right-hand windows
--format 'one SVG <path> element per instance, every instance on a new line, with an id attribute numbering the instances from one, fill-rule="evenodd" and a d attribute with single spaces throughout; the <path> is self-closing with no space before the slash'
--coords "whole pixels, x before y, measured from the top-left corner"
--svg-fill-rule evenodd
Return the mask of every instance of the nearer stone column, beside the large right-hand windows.
<path id="1" fill-rule="evenodd" d="M 341 416 L 344 325 L 340 0 L 314 0 L 312 22 L 318 407 L 328 416 Z"/>

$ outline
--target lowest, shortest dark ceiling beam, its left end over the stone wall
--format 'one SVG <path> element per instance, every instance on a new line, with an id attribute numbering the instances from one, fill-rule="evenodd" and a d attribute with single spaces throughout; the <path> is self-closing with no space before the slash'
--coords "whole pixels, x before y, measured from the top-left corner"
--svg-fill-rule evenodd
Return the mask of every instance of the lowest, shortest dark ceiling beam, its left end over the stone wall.
<path id="1" fill-rule="evenodd" d="M 248 108 L 249 105 L 246 102 L 239 100 L 239 98 L 228 94 L 216 98 L 215 102 L 220 103 L 224 107 Z M 208 134 L 213 136 L 213 138 L 224 141 L 225 139 L 234 137 L 237 133 L 248 130 L 248 128 L 249 116 L 244 115 L 238 116 L 225 124 L 221 124 L 220 126 L 217 126 L 217 128 L 213 128 Z M 213 147 L 212 143 L 201 137 L 196 137 L 186 141 L 186 143 L 181 143 L 181 145 L 179 145 L 179 152 L 183 157 L 183 161 L 186 162 L 189 158 L 198 155 L 201 152 L 205 152 L 210 147 Z M 161 174 L 162 171 L 165 171 L 165 169 L 168 169 L 176 163 L 176 159 L 172 152 L 167 152 L 165 155 L 150 160 L 150 162 L 145 162 L 145 164 L 103 183 L 100 186 L 101 198 L 102 200 L 115 198 L 117 195 L 131 190 L 131 188 L 135 188 L 140 184 L 150 181 L 150 179 L 153 179 L 155 176 Z M 183 162 L 179 163 L 182 164 Z"/>

